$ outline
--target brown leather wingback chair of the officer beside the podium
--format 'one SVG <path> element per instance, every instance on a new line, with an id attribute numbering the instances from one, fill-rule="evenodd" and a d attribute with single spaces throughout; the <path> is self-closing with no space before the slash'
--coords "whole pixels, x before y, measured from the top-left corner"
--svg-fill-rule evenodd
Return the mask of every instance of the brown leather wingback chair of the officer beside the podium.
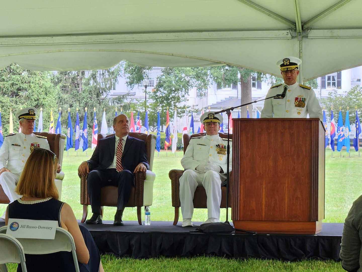
<path id="1" fill-rule="evenodd" d="M 191 138 L 193 137 L 200 137 L 204 136 L 206 133 L 198 133 L 198 134 L 184 134 L 184 154 L 186 152 L 186 148 L 189 145 L 189 142 Z M 227 139 L 227 134 L 219 132 L 219 136 Z M 230 134 L 230 139 L 232 140 L 232 134 Z M 178 222 L 178 218 L 180 217 L 180 183 L 179 179 L 182 176 L 182 173 L 184 173 L 184 170 L 178 170 L 178 169 L 172 169 L 168 176 L 171 179 L 171 192 L 172 192 L 172 206 L 175 207 L 175 218 L 173 221 L 173 224 L 176 225 Z M 231 172 L 229 174 L 229 192 L 231 191 Z M 226 186 L 221 186 L 221 205 L 220 208 L 226 208 Z M 206 191 L 204 187 L 198 186 L 196 188 L 195 194 L 194 194 L 194 208 L 207 208 L 206 207 Z M 229 194 L 229 207 L 231 207 L 231 197 Z"/>

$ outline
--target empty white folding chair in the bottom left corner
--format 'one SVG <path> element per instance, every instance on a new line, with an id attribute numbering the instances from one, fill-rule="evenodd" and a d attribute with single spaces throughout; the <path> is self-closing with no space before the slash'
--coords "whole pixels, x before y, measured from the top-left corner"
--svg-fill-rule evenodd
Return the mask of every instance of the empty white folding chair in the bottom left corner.
<path id="1" fill-rule="evenodd" d="M 0 233 L 0 272 L 7 272 L 6 263 L 21 264 L 23 272 L 26 272 L 24 248 L 20 242 L 5 233 Z"/>

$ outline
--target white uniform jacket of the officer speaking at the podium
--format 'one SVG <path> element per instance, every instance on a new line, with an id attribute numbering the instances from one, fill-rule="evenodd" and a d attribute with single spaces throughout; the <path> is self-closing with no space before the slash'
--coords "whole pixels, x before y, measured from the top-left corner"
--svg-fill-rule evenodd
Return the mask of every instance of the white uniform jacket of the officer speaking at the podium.
<path id="1" fill-rule="evenodd" d="M 271 87 L 266 97 L 281 94 L 283 86 L 284 84 Z M 285 98 L 265 100 L 261 110 L 261 118 L 307 118 L 307 114 L 310 118 L 323 120 L 322 108 L 313 89 L 297 82 L 289 86 Z"/>

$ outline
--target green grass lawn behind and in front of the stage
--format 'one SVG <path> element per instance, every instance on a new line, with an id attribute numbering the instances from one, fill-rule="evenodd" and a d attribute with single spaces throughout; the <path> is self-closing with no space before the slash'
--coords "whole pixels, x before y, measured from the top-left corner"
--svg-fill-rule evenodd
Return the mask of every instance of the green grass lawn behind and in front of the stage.
<path id="1" fill-rule="evenodd" d="M 81 219 L 80 180 L 77 175 L 79 164 L 90 158 L 92 151 L 85 152 L 70 149 L 69 156 L 64 152 L 63 172 L 65 173 L 62 189 L 62 201 L 70 204 L 76 218 Z M 352 203 L 362 194 L 361 173 L 362 157 L 351 149 L 350 157 L 346 151 L 333 152 L 327 148 L 325 158 L 325 219 L 323 222 L 344 222 Z M 168 177 L 170 169 L 182 169 L 180 160 L 182 152 L 162 151 L 159 156 L 155 152 L 153 172 L 156 180 L 153 187 L 153 204 L 151 206 L 152 221 L 173 221 L 174 208 L 171 202 L 171 182 Z M 0 212 L 7 205 L 0 204 Z M 104 220 L 113 220 L 115 207 L 105 207 Z M 90 210 L 90 207 L 89 207 Z M 225 218 L 226 210 L 222 209 L 220 218 Z M 89 218 L 89 216 L 88 216 Z M 205 221 L 206 209 L 195 209 L 193 221 Z M 126 208 L 123 220 L 136 221 L 135 208 Z M 180 216 L 181 220 L 181 216 Z M 231 212 L 229 210 L 229 220 Z M 165 258 L 134 260 L 131 258 L 115 258 L 103 255 L 105 271 L 344 271 L 340 263 L 334 261 L 308 260 L 296 263 L 270 260 L 235 260 L 219 257 Z M 9 270 L 9 271 L 15 271 Z"/>

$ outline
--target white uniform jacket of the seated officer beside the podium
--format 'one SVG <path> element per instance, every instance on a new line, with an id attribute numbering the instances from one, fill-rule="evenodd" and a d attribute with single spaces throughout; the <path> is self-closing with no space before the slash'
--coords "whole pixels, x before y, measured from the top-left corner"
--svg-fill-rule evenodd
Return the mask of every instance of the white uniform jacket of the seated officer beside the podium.
<path id="1" fill-rule="evenodd" d="M 185 170 L 195 168 L 199 164 L 210 162 L 211 164 L 219 165 L 223 169 L 223 176 L 226 178 L 227 171 L 227 157 L 226 154 L 218 154 L 216 145 L 221 144 L 227 147 L 227 140 L 223 140 L 219 137 L 219 134 L 216 135 L 205 135 L 202 137 L 191 138 L 184 157 L 181 159 L 181 165 Z M 231 151 L 232 151 L 232 141 L 230 140 L 230 166 L 229 171 L 231 171 Z M 196 170 L 195 170 L 196 171 Z"/>

